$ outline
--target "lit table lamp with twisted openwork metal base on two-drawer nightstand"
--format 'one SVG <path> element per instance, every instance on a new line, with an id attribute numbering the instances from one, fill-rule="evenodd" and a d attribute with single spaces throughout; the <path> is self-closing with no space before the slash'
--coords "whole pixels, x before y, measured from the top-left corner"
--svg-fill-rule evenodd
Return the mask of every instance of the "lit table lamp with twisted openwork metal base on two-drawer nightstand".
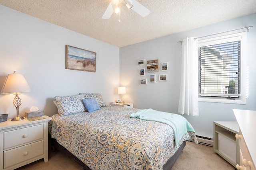
<path id="1" fill-rule="evenodd" d="M 13 105 L 16 107 L 17 116 L 12 119 L 12 121 L 18 121 L 24 119 L 19 115 L 19 107 L 21 105 L 21 100 L 18 93 L 30 92 L 30 87 L 22 74 L 8 74 L 4 86 L 2 88 L 1 94 L 15 93 L 15 98 L 13 100 Z"/>

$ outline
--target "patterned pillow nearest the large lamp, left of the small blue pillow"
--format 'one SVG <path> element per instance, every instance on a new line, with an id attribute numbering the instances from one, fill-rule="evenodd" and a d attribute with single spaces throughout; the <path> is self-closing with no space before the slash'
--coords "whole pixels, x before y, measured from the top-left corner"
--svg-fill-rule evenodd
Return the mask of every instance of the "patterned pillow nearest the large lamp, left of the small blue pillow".
<path id="1" fill-rule="evenodd" d="M 72 115 L 86 111 L 86 108 L 82 102 L 84 95 L 55 96 L 54 99 L 61 116 Z"/>

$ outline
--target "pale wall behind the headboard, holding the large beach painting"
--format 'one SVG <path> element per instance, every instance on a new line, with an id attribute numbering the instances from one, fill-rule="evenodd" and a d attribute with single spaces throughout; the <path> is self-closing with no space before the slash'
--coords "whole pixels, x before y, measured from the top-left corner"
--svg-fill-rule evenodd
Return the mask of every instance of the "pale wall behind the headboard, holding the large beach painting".
<path id="1" fill-rule="evenodd" d="M 31 92 L 20 94 L 20 115 L 31 106 L 57 113 L 54 96 L 100 92 L 118 98 L 119 48 L 0 5 L 0 90 L 6 76 L 23 74 Z M 65 45 L 96 52 L 96 72 L 65 69 Z M 16 116 L 13 94 L 0 94 L 0 114 Z"/>

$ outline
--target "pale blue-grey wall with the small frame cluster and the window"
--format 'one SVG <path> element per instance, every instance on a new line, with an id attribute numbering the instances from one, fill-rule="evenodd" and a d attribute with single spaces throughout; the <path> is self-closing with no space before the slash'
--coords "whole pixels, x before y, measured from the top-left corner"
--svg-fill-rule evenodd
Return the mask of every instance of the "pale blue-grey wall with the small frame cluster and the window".
<path id="1" fill-rule="evenodd" d="M 177 113 L 180 93 L 180 65 L 182 47 L 178 41 L 185 37 L 202 37 L 247 26 L 253 26 L 247 34 L 247 67 L 249 96 L 246 105 L 199 102 L 199 116 L 187 116 L 197 135 L 213 137 L 213 121 L 236 121 L 232 109 L 256 110 L 256 14 L 236 18 L 198 29 L 184 31 L 174 35 L 160 37 L 143 43 L 120 48 L 120 86 L 126 86 L 123 95 L 125 102 L 131 102 L 137 108 L 152 108 L 159 111 Z M 245 30 L 242 30 L 245 31 Z M 145 62 L 158 59 L 169 63 L 167 72 L 159 71 L 151 74 L 168 74 L 168 81 L 149 82 L 149 74 L 139 76 L 138 59 Z M 140 78 L 147 78 L 147 85 L 140 85 Z"/>

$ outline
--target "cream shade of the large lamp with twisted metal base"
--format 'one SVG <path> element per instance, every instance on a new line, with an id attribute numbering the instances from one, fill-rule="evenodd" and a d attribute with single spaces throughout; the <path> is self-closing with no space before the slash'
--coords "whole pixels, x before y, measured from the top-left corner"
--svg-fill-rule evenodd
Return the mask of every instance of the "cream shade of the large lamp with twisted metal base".
<path id="1" fill-rule="evenodd" d="M 30 87 L 22 74 L 8 74 L 1 94 L 30 92 Z"/>

